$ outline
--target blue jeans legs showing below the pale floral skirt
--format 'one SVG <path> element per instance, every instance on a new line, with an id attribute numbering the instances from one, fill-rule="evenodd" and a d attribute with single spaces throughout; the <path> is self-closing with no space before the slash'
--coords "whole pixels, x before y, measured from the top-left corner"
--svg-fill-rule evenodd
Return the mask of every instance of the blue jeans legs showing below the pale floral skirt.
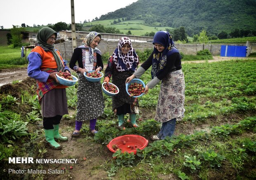
<path id="1" fill-rule="evenodd" d="M 173 135 L 174 133 L 175 125 L 176 125 L 176 118 L 173 118 L 167 122 L 163 122 L 161 130 L 157 134 L 157 137 L 159 139 L 164 139 L 166 136 L 171 137 L 171 135 Z"/>

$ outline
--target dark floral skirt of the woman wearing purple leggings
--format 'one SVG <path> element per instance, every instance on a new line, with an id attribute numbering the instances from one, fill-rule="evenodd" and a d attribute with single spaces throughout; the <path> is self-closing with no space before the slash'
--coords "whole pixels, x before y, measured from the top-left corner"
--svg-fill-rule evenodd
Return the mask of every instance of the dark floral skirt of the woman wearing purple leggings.
<path id="1" fill-rule="evenodd" d="M 87 81 L 78 73 L 77 89 L 77 121 L 87 121 L 98 118 L 104 112 L 104 99 L 100 82 Z"/>

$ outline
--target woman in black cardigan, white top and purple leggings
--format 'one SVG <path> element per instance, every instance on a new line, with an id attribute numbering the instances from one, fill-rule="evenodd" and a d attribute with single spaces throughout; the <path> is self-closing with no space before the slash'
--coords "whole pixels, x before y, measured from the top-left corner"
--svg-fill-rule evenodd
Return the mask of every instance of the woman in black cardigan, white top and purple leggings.
<path id="1" fill-rule="evenodd" d="M 96 46 L 100 43 L 101 35 L 90 32 L 83 40 L 83 45 L 74 49 L 69 66 L 78 74 L 76 127 L 72 133 L 78 137 L 83 121 L 90 120 L 90 131 L 97 133 L 95 125 L 97 118 L 103 114 L 104 100 L 100 82 L 90 82 L 83 75 L 90 70 L 103 69 L 101 52 Z M 78 62 L 78 65 L 76 65 Z"/>

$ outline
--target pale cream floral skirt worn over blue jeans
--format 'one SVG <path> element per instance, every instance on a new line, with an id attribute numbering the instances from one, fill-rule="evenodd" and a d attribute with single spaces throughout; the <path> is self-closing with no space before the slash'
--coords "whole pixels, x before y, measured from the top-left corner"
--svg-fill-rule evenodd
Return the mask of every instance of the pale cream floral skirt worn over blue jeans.
<path id="1" fill-rule="evenodd" d="M 170 72 L 161 83 L 155 120 L 167 122 L 184 118 L 185 79 L 182 70 Z"/>

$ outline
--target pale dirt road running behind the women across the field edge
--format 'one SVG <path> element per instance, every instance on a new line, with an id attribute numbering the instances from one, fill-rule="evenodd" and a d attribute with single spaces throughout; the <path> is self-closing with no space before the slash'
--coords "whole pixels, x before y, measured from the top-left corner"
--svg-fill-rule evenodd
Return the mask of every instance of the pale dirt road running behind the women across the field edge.
<path id="1" fill-rule="evenodd" d="M 208 60 L 208 62 L 218 62 L 225 61 L 230 59 L 238 59 L 237 57 L 218 57 L 213 56 L 213 60 Z M 239 58 L 241 59 L 241 58 Z M 202 63 L 206 62 L 205 60 L 196 60 L 196 61 L 185 61 L 183 63 Z M 106 65 L 104 65 L 106 67 Z M 15 69 L 0 69 L 0 86 L 7 83 L 12 83 L 13 81 L 22 81 L 28 77 L 27 69 L 24 68 L 15 68 Z"/>

